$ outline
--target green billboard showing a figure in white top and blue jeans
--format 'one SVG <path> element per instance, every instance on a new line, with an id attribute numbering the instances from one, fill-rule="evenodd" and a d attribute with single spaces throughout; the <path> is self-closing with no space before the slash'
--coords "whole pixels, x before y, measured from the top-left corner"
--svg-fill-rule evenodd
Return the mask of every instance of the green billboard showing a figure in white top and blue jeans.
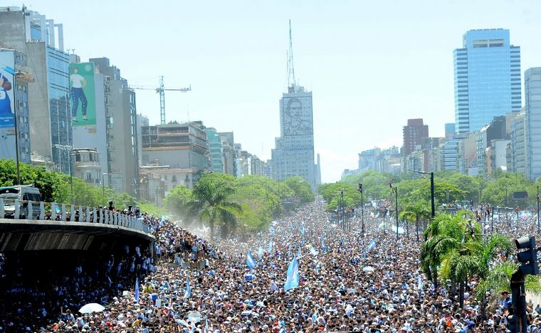
<path id="1" fill-rule="evenodd" d="M 70 96 L 72 126 L 96 124 L 94 63 L 70 64 Z"/>

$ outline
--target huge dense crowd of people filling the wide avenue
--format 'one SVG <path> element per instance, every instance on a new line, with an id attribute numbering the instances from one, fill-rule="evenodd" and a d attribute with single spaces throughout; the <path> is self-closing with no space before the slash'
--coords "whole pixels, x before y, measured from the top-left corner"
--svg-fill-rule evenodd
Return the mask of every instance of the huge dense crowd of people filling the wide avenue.
<path id="1" fill-rule="evenodd" d="M 420 241 L 413 234 L 397 241 L 392 225 L 382 230 L 374 209 L 364 212 L 365 235 L 358 217 L 352 231 L 344 231 L 316 200 L 268 231 L 213 244 L 167 219 L 142 218 L 156 239 L 146 266 L 133 261 L 132 252 L 120 271 L 117 258 L 103 261 L 105 271 L 75 264 L 75 275 L 51 283 L 43 297 L 36 296 L 39 290 L 10 285 L 6 290 L 17 296 L 0 305 L 0 332 L 10 323 L 38 332 L 38 322 L 52 322 L 43 326 L 46 332 L 505 332 L 508 295 L 492 295 L 495 306 L 483 318 L 471 280 L 459 308 L 445 282 L 434 288 L 421 272 Z M 535 234 L 535 222 L 535 215 L 525 213 L 511 223 L 496 217 L 492 226 L 511 237 Z M 252 269 L 248 251 L 256 263 Z M 285 291 L 294 257 L 300 283 Z M 51 304 L 51 295 L 63 298 Z M 105 310 L 78 313 L 85 302 L 99 302 Z M 529 305 L 532 333 L 541 327 L 540 313 L 539 305 Z M 32 316 L 33 325 L 25 321 Z"/>

